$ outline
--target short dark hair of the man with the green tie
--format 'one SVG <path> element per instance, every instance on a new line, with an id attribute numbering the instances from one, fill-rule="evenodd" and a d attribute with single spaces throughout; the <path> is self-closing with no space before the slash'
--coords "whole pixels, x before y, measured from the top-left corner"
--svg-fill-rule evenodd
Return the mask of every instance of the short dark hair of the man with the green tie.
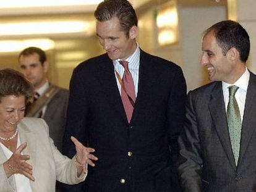
<path id="1" fill-rule="evenodd" d="M 213 32 L 218 46 L 225 56 L 229 49 L 236 48 L 242 62 L 246 62 L 250 52 L 250 38 L 247 31 L 233 20 L 224 20 L 211 26 L 205 35 Z"/>

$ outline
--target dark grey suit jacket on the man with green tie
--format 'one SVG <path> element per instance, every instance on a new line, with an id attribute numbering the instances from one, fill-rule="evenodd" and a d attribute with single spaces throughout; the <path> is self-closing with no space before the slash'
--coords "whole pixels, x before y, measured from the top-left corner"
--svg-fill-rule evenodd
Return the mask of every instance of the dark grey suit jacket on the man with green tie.
<path id="1" fill-rule="evenodd" d="M 229 140 L 221 81 L 190 91 L 179 177 L 184 191 L 256 191 L 256 76 L 250 73 L 237 167 Z"/>

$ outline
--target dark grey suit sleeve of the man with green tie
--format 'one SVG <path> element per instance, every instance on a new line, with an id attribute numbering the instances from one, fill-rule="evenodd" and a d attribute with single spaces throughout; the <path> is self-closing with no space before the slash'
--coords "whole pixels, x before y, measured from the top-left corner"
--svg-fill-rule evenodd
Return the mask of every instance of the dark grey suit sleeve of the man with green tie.
<path id="1" fill-rule="evenodd" d="M 186 120 L 184 130 L 179 137 L 179 148 L 178 172 L 182 191 L 202 191 L 202 151 L 191 93 L 187 96 Z"/>

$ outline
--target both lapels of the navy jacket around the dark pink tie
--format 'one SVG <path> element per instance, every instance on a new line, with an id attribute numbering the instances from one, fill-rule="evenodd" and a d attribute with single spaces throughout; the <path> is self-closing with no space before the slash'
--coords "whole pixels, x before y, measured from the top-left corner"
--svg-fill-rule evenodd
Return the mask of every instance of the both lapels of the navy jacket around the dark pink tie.
<path id="1" fill-rule="evenodd" d="M 121 96 L 117 87 L 116 77 L 114 75 L 113 61 L 109 59 L 107 54 L 104 54 L 98 61 L 98 80 L 100 80 L 101 87 L 106 93 L 106 98 L 112 104 L 118 114 L 127 121 L 126 113 L 122 105 Z M 155 78 L 160 77 L 161 71 L 153 64 L 148 57 L 148 54 L 140 49 L 140 67 L 139 67 L 139 83 L 138 94 L 135 101 L 134 114 L 132 121 L 137 117 L 139 109 L 143 109 L 143 102 L 148 101 L 145 97 L 148 96 L 150 90 L 155 82 Z"/>

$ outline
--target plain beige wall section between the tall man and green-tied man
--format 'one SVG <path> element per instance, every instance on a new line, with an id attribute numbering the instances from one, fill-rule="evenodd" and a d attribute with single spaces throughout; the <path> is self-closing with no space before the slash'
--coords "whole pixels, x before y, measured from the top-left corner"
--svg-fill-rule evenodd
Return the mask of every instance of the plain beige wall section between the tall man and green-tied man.
<path id="1" fill-rule="evenodd" d="M 182 70 L 187 90 L 193 90 L 208 82 L 207 70 L 200 65 L 202 33 L 208 27 L 226 20 L 226 8 L 179 7 L 180 41 L 182 47 Z"/>

